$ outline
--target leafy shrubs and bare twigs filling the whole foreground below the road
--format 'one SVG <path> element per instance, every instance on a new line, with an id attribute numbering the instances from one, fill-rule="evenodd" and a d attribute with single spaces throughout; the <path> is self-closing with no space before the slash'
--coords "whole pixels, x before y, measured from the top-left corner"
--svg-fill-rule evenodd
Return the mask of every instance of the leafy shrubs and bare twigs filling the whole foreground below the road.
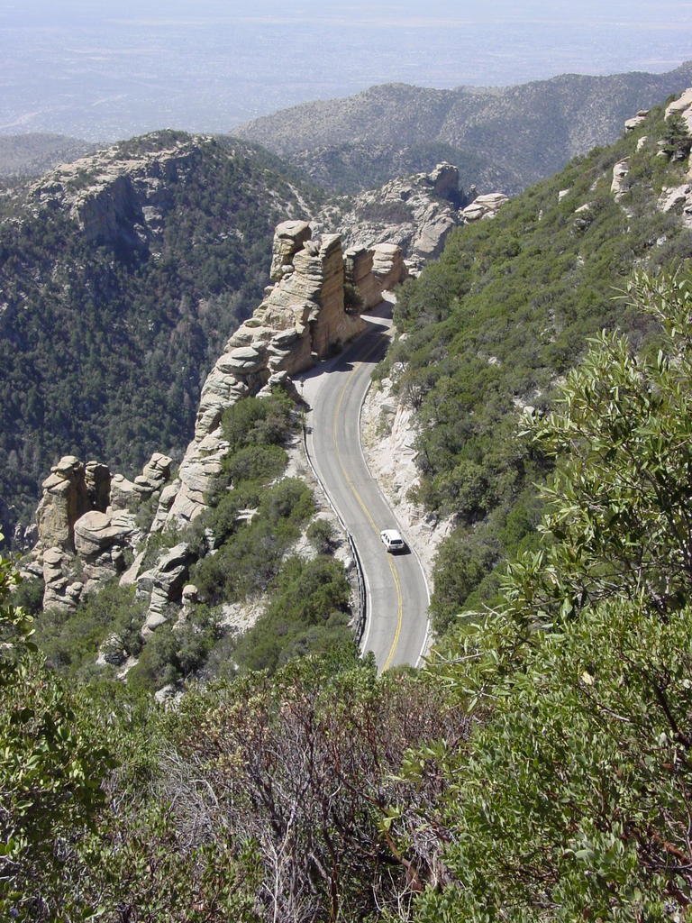
<path id="1" fill-rule="evenodd" d="M 19 921 L 674 921 L 689 857 L 689 277 L 630 285 L 555 414 L 542 547 L 424 671 L 348 649 L 63 685 L 0 564 L 0 909 Z"/>

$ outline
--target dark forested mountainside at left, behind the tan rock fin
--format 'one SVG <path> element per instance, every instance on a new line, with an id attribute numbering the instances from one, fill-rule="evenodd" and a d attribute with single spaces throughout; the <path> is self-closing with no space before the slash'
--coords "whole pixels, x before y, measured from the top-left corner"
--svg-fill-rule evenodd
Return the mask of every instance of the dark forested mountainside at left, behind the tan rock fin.
<path id="1" fill-rule="evenodd" d="M 174 145 L 180 161 L 157 180 L 160 218 L 147 223 L 125 173 L 108 181 L 121 204 L 104 201 L 102 221 L 80 231 L 69 202 L 100 171 Z M 159 132 L 108 157 L 66 183 L 65 201 L 39 206 L 35 193 L 0 208 L 7 534 L 29 520 L 63 454 L 132 473 L 154 450 L 180 450 L 210 362 L 261 298 L 274 225 L 300 208 L 275 159 L 240 142 Z"/>

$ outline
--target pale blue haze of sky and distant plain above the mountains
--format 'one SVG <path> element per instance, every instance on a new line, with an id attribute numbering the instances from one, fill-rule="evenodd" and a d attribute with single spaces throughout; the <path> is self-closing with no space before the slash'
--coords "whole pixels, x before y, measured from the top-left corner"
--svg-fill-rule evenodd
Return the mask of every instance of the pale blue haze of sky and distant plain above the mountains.
<path id="1" fill-rule="evenodd" d="M 0 132 L 222 131 L 389 81 L 668 70 L 692 2 L 0 0 L 0 51 Z"/>

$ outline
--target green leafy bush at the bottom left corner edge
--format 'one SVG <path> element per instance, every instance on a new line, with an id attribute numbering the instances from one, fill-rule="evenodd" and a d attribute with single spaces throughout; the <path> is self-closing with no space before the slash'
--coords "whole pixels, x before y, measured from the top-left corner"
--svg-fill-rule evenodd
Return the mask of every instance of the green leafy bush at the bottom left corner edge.
<path id="1" fill-rule="evenodd" d="M 16 581 L 0 557 L 0 911 L 34 920 L 59 875 L 55 846 L 101 806 L 111 755 L 84 697 L 36 656 L 30 617 L 10 596 Z"/>

